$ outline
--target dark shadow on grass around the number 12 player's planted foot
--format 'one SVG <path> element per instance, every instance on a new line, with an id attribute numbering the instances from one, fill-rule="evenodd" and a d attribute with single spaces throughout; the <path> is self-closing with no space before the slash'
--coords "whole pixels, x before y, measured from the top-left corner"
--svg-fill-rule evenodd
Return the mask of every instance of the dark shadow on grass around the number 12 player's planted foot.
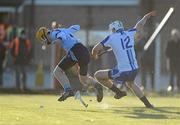
<path id="1" fill-rule="evenodd" d="M 180 119 L 180 107 L 112 107 L 114 113 L 135 119 Z"/>

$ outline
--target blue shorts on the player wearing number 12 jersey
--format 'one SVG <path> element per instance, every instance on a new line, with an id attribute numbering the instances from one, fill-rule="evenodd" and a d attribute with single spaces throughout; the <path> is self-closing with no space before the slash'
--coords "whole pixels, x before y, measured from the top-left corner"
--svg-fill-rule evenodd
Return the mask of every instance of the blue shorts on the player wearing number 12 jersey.
<path id="1" fill-rule="evenodd" d="M 137 73 L 138 69 L 124 72 L 120 72 L 118 69 L 111 69 L 108 72 L 108 76 L 110 79 L 116 81 L 117 83 L 123 84 L 127 81 L 134 81 Z"/>

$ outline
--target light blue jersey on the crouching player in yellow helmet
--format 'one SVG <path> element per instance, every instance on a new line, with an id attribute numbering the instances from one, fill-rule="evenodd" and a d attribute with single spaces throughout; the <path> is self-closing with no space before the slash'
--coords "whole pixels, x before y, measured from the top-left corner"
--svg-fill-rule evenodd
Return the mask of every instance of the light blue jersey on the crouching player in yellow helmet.
<path id="1" fill-rule="evenodd" d="M 52 40 L 52 44 L 57 42 L 60 39 L 62 48 L 64 48 L 67 52 L 77 43 L 79 43 L 79 39 L 74 36 L 74 33 L 80 30 L 79 25 L 73 25 L 69 28 L 57 28 L 50 31 L 50 38 Z M 59 40 L 58 40 L 59 41 Z"/>

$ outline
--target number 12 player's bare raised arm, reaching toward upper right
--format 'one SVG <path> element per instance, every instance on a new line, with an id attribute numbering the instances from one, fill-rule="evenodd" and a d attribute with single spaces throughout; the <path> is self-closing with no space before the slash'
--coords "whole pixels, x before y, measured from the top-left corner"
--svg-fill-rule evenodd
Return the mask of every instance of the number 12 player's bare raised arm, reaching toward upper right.
<path id="1" fill-rule="evenodd" d="M 156 11 L 151 11 L 147 13 L 136 25 L 134 28 L 136 28 L 137 32 L 135 34 L 135 41 L 139 41 L 143 36 L 143 27 L 146 24 L 146 21 L 151 17 L 155 16 Z"/>

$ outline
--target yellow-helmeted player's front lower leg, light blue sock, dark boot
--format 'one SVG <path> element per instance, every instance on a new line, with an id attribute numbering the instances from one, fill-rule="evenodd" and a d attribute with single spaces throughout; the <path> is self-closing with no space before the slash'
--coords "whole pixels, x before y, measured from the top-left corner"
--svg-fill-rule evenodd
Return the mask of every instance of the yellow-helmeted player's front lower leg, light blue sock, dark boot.
<path id="1" fill-rule="evenodd" d="M 74 96 L 74 92 L 71 89 L 71 85 L 69 83 L 69 79 L 67 78 L 65 72 L 59 67 L 56 66 L 56 68 L 53 71 L 54 76 L 59 81 L 59 83 L 62 85 L 64 89 L 64 93 L 62 96 L 58 99 L 58 101 L 64 101 L 68 97 Z"/>

